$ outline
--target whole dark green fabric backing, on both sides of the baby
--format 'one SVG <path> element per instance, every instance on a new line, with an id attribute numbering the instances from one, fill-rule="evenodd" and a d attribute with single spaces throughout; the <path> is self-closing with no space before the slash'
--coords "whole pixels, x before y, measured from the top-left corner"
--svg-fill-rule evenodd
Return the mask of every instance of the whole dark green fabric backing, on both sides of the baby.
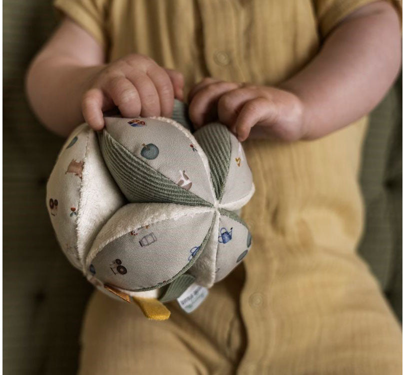
<path id="1" fill-rule="evenodd" d="M 63 139 L 41 127 L 23 91 L 26 66 L 54 27 L 50 0 L 3 1 L 3 373 L 76 372 L 92 286 L 65 259 L 45 209 Z M 401 313 L 401 81 L 373 112 L 361 183 L 361 254 Z"/>

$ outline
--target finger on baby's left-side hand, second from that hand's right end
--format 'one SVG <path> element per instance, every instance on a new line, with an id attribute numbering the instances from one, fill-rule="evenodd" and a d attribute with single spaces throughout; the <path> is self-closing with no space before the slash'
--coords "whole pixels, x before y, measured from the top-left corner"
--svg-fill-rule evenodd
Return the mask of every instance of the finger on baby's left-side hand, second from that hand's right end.
<path id="1" fill-rule="evenodd" d="M 156 65 L 147 72 L 147 76 L 153 82 L 159 96 L 160 115 L 170 117 L 174 105 L 174 91 L 168 74 Z"/>

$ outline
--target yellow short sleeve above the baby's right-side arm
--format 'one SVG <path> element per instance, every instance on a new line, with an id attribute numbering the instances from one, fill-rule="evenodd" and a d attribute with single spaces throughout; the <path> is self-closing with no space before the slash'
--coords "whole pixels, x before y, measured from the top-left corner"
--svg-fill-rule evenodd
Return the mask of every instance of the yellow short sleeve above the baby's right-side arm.
<path id="1" fill-rule="evenodd" d="M 386 0 L 401 16 L 401 0 Z M 375 0 L 313 0 L 321 36 L 326 36 L 345 16 Z"/>

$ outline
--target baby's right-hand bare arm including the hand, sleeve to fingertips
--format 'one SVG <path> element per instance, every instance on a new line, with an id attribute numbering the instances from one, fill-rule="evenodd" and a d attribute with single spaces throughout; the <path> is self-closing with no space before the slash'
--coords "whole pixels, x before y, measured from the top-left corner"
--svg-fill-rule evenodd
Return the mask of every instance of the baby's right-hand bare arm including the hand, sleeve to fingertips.
<path id="1" fill-rule="evenodd" d="M 201 81 L 190 92 L 190 118 L 198 126 L 212 119 L 207 113 L 216 115 L 240 140 L 250 130 L 284 140 L 317 138 L 368 113 L 400 60 L 398 16 L 389 3 L 376 1 L 347 16 L 320 52 L 277 87 Z"/>

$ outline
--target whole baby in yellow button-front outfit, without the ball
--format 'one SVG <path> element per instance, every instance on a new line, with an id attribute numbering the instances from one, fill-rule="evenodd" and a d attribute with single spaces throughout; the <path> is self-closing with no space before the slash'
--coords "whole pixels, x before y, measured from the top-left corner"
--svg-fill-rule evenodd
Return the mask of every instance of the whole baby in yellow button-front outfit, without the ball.
<path id="1" fill-rule="evenodd" d="M 65 16 L 26 77 L 46 127 L 185 100 L 195 127 L 218 119 L 244 141 L 256 186 L 244 265 L 158 324 L 95 292 L 80 373 L 400 373 L 399 325 L 355 253 L 364 115 L 400 67 L 392 4 L 55 1 Z"/>

